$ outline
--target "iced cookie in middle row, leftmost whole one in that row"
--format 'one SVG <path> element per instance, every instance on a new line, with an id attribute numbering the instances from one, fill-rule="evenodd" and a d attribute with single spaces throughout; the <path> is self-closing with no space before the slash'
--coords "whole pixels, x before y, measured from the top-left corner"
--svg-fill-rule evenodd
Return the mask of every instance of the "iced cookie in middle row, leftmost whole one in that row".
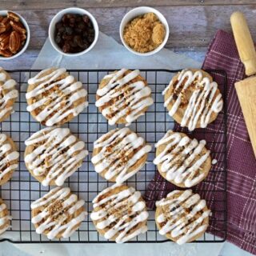
<path id="1" fill-rule="evenodd" d="M 25 144 L 26 168 L 43 186 L 62 186 L 66 178 L 82 166 L 88 154 L 85 143 L 68 128 L 39 130 Z"/>

